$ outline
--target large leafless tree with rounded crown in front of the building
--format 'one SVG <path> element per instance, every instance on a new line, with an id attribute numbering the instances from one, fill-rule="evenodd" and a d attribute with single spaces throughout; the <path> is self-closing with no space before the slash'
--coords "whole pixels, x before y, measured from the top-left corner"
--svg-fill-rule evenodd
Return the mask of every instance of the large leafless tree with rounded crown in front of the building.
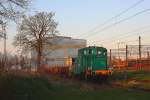
<path id="1" fill-rule="evenodd" d="M 38 67 L 41 66 L 43 44 L 50 36 L 57 33 L 57 22 L 54 13 L 39 12 L 30 17 L 24 17 L 19 25 L 19 33 L 15 36 L 15 46 L 22 49 L 34 49 L 37 52 Z"/>

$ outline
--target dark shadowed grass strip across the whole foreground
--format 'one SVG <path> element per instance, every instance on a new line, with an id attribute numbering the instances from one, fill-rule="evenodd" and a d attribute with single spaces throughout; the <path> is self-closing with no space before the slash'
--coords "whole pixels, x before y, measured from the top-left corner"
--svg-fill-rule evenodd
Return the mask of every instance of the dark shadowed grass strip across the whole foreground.
<path id="1" fill-rule="evenodd" d="M 39 76 L 0 76 L 0 100 L 149 100 L 149 93 Z"/>

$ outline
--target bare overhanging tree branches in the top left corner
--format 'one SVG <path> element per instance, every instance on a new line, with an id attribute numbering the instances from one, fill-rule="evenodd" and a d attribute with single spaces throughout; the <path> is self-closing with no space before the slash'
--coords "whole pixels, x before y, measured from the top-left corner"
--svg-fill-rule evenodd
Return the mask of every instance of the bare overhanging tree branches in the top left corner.
<path id="1" fill-rule="evenodd" d="M 0 0 L 0 17 L 5 20 L 16 20 L 33 0 Z"/>

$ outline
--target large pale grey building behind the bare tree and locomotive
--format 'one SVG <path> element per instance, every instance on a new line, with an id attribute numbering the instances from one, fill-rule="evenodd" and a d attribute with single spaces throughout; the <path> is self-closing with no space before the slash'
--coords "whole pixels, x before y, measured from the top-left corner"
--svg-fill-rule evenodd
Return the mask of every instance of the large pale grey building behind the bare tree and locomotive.
<path id="1" fill-rule="evenodd" d="M 86 47 L 86 40 L 84 39 L 64 36 L 50 37 L 43 48 L 44 63 L 49 66 L 65 65 L 68 57 L 77 57 L 78 49 L 84 47 Z M 35 58 L 36 52 L 32 52 L 31 55 L 32 58 Z"/>

